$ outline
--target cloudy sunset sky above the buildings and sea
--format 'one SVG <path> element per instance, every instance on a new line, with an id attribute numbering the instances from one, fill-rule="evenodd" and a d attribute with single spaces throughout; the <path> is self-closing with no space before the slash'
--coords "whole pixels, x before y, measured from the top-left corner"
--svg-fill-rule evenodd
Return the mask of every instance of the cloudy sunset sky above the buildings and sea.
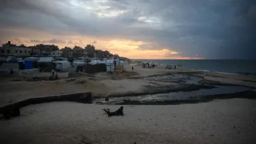
<path id="1" fill-rule="evenodd" d="M 0 0 L 0 43 L 133 59 L 255 59 L 254 0 Z"/>

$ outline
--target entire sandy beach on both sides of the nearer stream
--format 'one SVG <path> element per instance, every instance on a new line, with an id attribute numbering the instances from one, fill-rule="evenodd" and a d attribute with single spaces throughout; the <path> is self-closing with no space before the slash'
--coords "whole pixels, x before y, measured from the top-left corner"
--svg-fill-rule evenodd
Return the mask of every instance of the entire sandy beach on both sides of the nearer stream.
<path id="1" fill-rule="evenodd" d="M 37 96 L 92 92 L 98 97 L 161 94 L 212 89 L 218 85 L 245 86 L 251 92 L 256 78 L 242 74 L 142 69 L 124 65 L 110 74 L 60 73 L 56 81 L 26 82 L 23 77 L 48 77 L 48 73 L 1 79 L 0 105 Z M 178 79 L 176 79 L 178 77 Z M 17 80 L 18 79 L 18 80 Z M 200 80 L 201 79 L 201 80 Z M 210 85 L 208 85 L 210 84 Z M 212 85 L 213 84 L 213 85 Z M 15 89 L 15 90 L 14 90 Z M 177 93 L 178 94 L 178 93 Z M 250 93 L 253 96 L 255 93 Z M 238 94 L 239 95 L 239 94 Z M 221 96 L 221 95 L 220 95 Z M 220 97 L 219 96 L 219 97 Z M 124 106 L 124 116 L 107 117 L 101 110 L 119 106 L 52 102 L 21 109 L 21 116 L 0 120 L 4 143 L 256 143 L 256 100 L 213 99 L 200 104 Z M 242 95 L 235 96 L 241 97 Z M 245 96 L 246 97 L 246 96 Z M 197 102 L 196 102 L 197 103 Z"/>

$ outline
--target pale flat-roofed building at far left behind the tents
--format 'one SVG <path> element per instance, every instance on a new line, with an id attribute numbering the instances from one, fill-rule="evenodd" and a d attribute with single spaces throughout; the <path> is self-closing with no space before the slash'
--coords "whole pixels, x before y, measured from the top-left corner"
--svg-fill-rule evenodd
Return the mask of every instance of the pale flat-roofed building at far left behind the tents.
<path id="1" fill-rule="evenodd" d="M 31 48 L 27 48 L 25 45 L 16 46 L 11 44 L 11 41 L 2 45 L 0 48 L 1 55 L 13 55 L 15 57 L 26 57 L 31 55 Z"/>

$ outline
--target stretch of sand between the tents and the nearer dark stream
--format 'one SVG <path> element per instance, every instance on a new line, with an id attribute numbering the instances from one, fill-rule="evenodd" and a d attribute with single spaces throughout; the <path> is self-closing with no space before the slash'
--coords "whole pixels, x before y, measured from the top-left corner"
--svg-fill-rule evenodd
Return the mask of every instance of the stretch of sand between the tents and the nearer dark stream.
<path id="1" fill-rule="evenodd" d="M 163 74 L 180 74 L 190 79 L 152 79 Z M 136 96 L 145 94 L 160 94 L 169 92 L 189 92 L 198 89 L 211 89 L 211 85 L 239 85 L 256 88 L 256 78 L 242 74 L 221 74 L 214 72 L 198 72 L 195 70 L 166 70 L 163 66 L 154 69 L 143 69 L 142 66 L 124 65 L 124 69 L 114 74 L 100 72 L 94 77 L 82 75 L 70 77 L 68 73 L 59 73 L 60 80 L 26 82 L 23 77 L 48 77 L 50 73 L 21 74 L 14 77 L 5 77 L 0 80 L 0 106 L 22 99 L 36 96 L 49 96 L 73 92 L 92 92 L 94 97 L 108 96 Z M 20 79 L 21 81 L 14 81 Z M 184 82 L 183 82 L 184 81 Z M 191 83 L 189 83 L 191 81 Z"/>

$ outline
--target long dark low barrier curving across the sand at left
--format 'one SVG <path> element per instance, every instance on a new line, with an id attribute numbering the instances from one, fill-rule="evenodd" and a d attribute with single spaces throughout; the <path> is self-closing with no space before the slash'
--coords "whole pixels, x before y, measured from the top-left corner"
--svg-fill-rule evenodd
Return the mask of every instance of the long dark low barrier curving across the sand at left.
<path id="1" fill-rule="evenodd" d="M 71 94 L 60 94 L 54 96 L 41 96 L 35 98 L 24 99 L 22 101 L 17 101 L 12 104 L 8 104 L 6 106 L 0 107 L 0 114 L 1 113 L 13 113 L 17 109 L 21 109 L 24 106 L 28 106 L 30 104 L 42 104 L 46 102 L 53 102 L 53 101 L 75 101 L 85 104 L 92 103 L 92 93 L 91 92 L 80 92 L 80 93 L 71 93 Z"/>

